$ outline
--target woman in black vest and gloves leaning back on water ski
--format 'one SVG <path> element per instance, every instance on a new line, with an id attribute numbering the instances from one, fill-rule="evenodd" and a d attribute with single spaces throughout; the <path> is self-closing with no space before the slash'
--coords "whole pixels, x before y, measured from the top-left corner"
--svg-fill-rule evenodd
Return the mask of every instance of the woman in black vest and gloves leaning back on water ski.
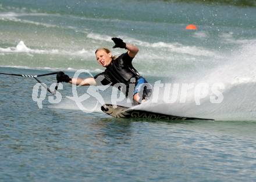
<path id="1" fill-rule="evenodd" d="M 105 71 L 96 75 L 94 78 L 69 78 L 68 75 L 65 75 L 64 72 L 61 72 L 57 75 L 57 81 L 59 82 L 69 82 L 74 85 L 108 85 L 117 86 L 121 88 L 120 84 L 126 87 L 126 90 L 123 91 L 126 94 L 126 97 L 129 95 L 129 86 L 130 83 L 135 83 L 135 88 L 133 91 L 133 103 L 139 104 L 145 101 L 146 97 L 149 97 L 151 94 L 150 84 L 143 78 L 140 77 L 137 70 L 131 64 L 131 61 L 138 53 L 138 48 L 129 43 L 123 42 L 120 38 L 112 38 L 115 42 L 113 48 L 123 48 L 127 49 L 126 53 L 121 54 L 118 57 L 113 57 L 112 53 L 107 48 L 99 48 L 95 51 L 95 56 L 99 64 L 105 67 Z M 97 83 L 97 78 L 100 82 Z M 143 89 L 142 89 L 143 87 Z"/>

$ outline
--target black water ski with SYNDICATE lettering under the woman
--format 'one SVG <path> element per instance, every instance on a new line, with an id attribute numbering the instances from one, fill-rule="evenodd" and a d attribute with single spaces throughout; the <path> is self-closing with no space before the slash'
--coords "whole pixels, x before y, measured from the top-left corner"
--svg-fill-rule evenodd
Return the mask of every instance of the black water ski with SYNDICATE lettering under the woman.
<path id="1" fill-rule="evenodd" d="M 105 104 L 101 106 L 101 110 L 115 118 L 145 118 L 145 119 L 165 119 L 165 120 L 214 120 L 204 118 L 189 118 L 166 115 L 156 112 L 133 110 L 129 107 L 121 105 Z"/>

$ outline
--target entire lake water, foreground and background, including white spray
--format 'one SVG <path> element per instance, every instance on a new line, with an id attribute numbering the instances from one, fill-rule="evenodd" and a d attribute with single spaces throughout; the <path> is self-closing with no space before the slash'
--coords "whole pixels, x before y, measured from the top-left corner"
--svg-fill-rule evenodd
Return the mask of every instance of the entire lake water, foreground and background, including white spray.
<path id="1" fill-rule="evenodd" d="M 198 30 L 186 30 L 192 23 Z M 170 103 L 159 94 L 139 109 L 215 121 L 112 118 L 93 98 L 80 110 L 68 83 L 60 102 L 47 93 L 40 108 L 35 79 L 0 75 L 0 181 L 255 181 L 255 26 L 255 6 L 2 0 L 0 72 L 95 75 L 104 71 L 95 49 L 120 37 L 138 46 L 133 65 L 152 85 L 194 84 L 183 103 L 180 95 Z M 55 75 L 38 79 L 56 82 Z M 201 83 L 209 87 L 197 100 Z M 215 83 L 223 86 L 217 104 Z M 79 96 L 86 91 L 77 88 Z M 111 92 L 99 92 L 105 103 Z"/>

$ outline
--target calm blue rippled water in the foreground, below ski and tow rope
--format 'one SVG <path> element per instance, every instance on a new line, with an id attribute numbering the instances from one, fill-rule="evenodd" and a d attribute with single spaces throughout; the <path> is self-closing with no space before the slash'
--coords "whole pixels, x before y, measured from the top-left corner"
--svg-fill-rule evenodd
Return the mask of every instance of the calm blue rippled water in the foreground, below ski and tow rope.
<path id="1" fill-rule="evenodd" d="M 255 180 L 253 121 L 116 119 L 47 100 L 40 109 L 34 83 L 1 76 L 1 181 Z"/>

